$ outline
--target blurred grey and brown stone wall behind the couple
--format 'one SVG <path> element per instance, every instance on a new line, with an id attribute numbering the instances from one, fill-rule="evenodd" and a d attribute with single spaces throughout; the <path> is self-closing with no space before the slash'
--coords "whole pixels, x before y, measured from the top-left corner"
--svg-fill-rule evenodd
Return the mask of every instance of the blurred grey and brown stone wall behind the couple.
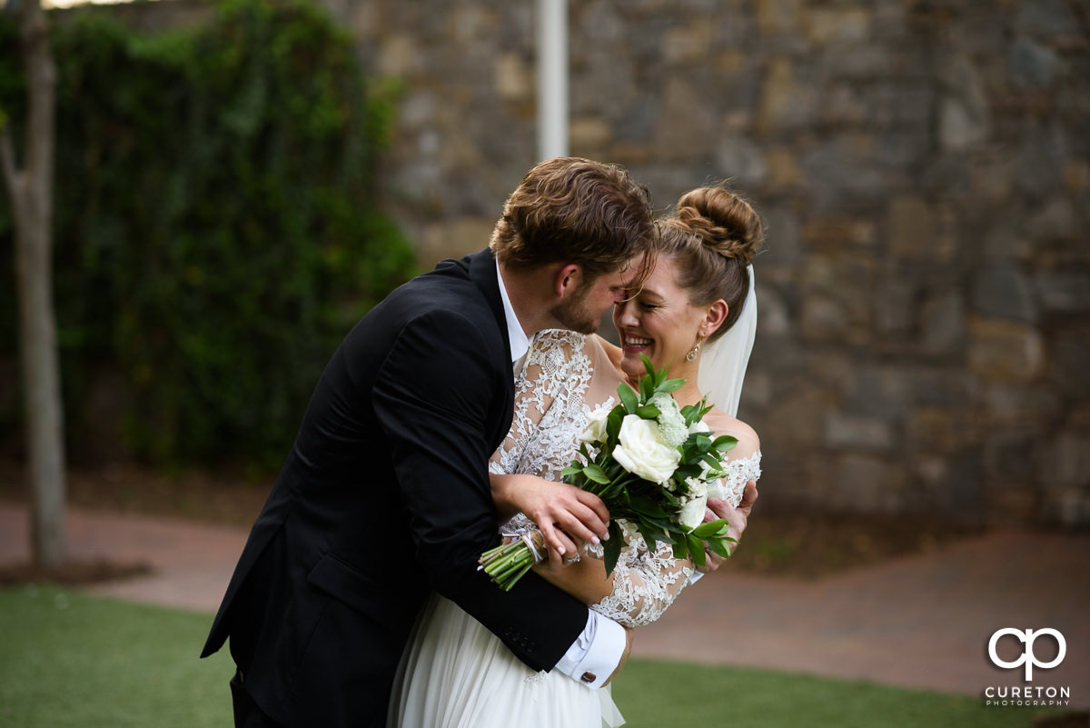
<path id="1" fill-rule="evenodd" d="M 482 247 L 536 161 L 533 2 L 326 4 L 403 84 L 385 194 L 422 263 Z M 767 222 L 766 507 L 1090 523 L 1085 2 L 569 12 L 572 154 L 659 208 L 729 178 Z"/>

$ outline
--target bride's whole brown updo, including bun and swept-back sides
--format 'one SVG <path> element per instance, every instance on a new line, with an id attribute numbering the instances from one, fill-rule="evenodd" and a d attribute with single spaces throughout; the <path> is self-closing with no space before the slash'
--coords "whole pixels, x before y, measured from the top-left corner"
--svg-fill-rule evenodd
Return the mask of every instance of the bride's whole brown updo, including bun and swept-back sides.
<path id="1" fill-rule="evenodd" d="M 698 187 L 681 195 L 674 213 L 656 227 L 656 251 L 677 265 L 676 283 L 702 306 L 718 299 L 727 318 L 708 340 L 725 333 L 749 294 L 747 266 L 764 238 L 761 218 L 750 204 L 723 187 Z"/>

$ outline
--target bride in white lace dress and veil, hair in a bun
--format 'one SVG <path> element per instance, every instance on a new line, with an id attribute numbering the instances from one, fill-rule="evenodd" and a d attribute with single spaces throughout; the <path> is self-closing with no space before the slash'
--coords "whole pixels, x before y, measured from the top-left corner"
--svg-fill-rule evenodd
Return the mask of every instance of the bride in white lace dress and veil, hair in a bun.
<path id="1" fill-rule="evenodd" d="M 553 517 L 535 499 L 540 481 L 522 476 L 560 481 L 560 471 L 576 456 L 588 411 L 613 407 L 617 386 L 634 384 L 645 373 L 643 355 L 656 368 L 669 366 L 671 378 L 686 379 L 674 393 L 680 405 L 706 395 L 715 407 L 704 422 L 716 435 L 738 439 L 728 453 L 724 497 L 737 506 L 747 482 L 760 476 L 756 433 L 734 416 L 756 328 L 749 263 L 761 240 L 760 219 L 735 194 L 700 187 L 682 195 L 675 213 L 656 223 L 656 233 L 653 271 L 642 289 L 614 308 L 620 348 L 572 331 L 543 331 L 534 339 L 517 383 L 511 429 L 491 466 L 497 509 L 501 518 L 510 517 L 505 533 L 534 527 L 525 513 L 552 526 Z M 552 527 L 543 532 L 567 542 Z M 632 529 L 626 529 L 626 541 L 608 579 L 601 546 L 593 544 L 583 547 L 576 563 L 560 569 L 542 563 L 535 570 L 626 628 L 646 624 L 699 577 L 692 561 L 675 559 L 667 544 L 652 551 Z M 608 689 L 590 690 L 555 670 L 533 671 L 438 595 L 422 611 L 402 656 L 388 716 L 391 728 L 622 723 Z"/>

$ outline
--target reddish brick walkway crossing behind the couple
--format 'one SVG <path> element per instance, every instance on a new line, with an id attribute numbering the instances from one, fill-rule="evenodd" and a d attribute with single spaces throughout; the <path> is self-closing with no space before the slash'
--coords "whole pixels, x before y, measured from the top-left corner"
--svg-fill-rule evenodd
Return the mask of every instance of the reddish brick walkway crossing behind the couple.
<path id="1" fill-rule="evenodd" d="M 208 612 L 246 536 L 88 511 L 71 512 L 68 526 L 78 558 L 146 561 L 154 570 L 88 591 Z M 0 563 L 26 560 L 27 533 L 25 509 L 0 505 Z M 1005 627 L 1064 634 L 1064 662 L 1034 670 L 1033 685 L 1068 685 L 1070 707 L 1090 707 L 1090 536 L 1004 531 L 814 582 L 725 567 L 641 629 L 633 654 L 981 695 L 988 685 L 1022 685 L 1020 669 L 988 659 L 989 638 Z M 1015 659 L 1015 644 L 1005 638 L 1000 656 Z M 1037 648 L 1041 662 L 1055 651 L 1047 639 Z"/>

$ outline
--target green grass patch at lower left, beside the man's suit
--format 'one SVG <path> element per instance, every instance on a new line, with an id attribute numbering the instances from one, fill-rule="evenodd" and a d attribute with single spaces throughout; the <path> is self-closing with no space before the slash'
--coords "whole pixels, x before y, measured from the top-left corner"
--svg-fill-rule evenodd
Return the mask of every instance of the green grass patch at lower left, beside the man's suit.
<path id="1" fill-rule="evenodd" d="M 230 656 L 197 658 L 210 615 L 20 587 L 0 624 L 4 728 L 232 725 Z"/>

